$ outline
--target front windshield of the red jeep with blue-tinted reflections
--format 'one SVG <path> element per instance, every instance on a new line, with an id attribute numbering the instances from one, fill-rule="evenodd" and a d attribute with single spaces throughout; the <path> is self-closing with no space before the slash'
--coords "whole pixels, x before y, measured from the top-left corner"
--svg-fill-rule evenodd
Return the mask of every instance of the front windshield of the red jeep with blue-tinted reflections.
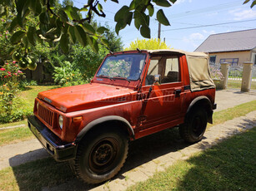
<path id="1" fill-rule="evenodd" d="M 145 59 L 146 54 L 139 53 L 108 56 L 97 76 L 138 81 L 143 71 Z"/>

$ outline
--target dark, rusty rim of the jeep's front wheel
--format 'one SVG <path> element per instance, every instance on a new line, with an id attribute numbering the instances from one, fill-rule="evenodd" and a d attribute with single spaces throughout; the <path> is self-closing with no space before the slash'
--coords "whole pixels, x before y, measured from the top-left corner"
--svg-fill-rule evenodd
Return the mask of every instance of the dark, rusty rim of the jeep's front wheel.
<path id="1" fill-rule="evenodd" d="M 108 173 L 114 168 L 118 150 L 118 141 L 113 138 L 98 141 L 89 154 L 89 168 L 97 174 Z"/>

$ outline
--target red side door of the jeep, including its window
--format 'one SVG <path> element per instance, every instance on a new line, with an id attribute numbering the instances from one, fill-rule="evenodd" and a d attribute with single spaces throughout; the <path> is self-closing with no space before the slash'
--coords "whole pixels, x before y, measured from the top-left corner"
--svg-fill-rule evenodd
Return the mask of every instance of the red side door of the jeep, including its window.
<path id="1" fill-rule="evenodd" d="M 153 84 L 154 75 L 160 75 L 162 78 L 157 84 Z M 148 97 L 150 86 L 152 91 Z M 173 125 L 173 121 L 179 118 L 183 104 L 179 56 L 151 57 L 142 94 L 140 130 L 155 127 L 157 131 Z"/>

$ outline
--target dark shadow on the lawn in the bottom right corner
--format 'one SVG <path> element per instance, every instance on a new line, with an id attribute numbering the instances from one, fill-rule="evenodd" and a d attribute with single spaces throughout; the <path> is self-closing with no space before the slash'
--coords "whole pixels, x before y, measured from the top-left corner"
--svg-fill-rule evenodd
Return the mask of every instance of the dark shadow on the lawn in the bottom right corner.
<path id="1" fill-rule="evenodd" d="M 239 127 L 244 129 L 252 123 L 252 120 L 244 120 Z M 256 127 L 243 134 L 233 135 L 202 154 L 191 157 L 186 161 L 189 168 L 182 169 L 186 173 L 181 176 L 175 189 L 255 190 L 255 142 Z M 175 169 L 168 169 L 168 174 L 174 171 Z M 162 182 L 163 185 L 164 182 L 167 183 L 168 179 Z"/>

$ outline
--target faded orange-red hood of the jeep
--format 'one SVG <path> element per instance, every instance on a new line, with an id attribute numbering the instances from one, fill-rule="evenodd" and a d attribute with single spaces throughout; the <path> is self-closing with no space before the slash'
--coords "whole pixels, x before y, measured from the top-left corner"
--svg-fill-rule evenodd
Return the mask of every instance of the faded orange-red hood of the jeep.
<path id="1" fill-rule="evenodd" d="M 122 86 L 91 83 L 42 91 L 38 98 L 63 112 L 87 110 L 99 106 L 113 105 L 125 101 L 133 89 Z"/>

